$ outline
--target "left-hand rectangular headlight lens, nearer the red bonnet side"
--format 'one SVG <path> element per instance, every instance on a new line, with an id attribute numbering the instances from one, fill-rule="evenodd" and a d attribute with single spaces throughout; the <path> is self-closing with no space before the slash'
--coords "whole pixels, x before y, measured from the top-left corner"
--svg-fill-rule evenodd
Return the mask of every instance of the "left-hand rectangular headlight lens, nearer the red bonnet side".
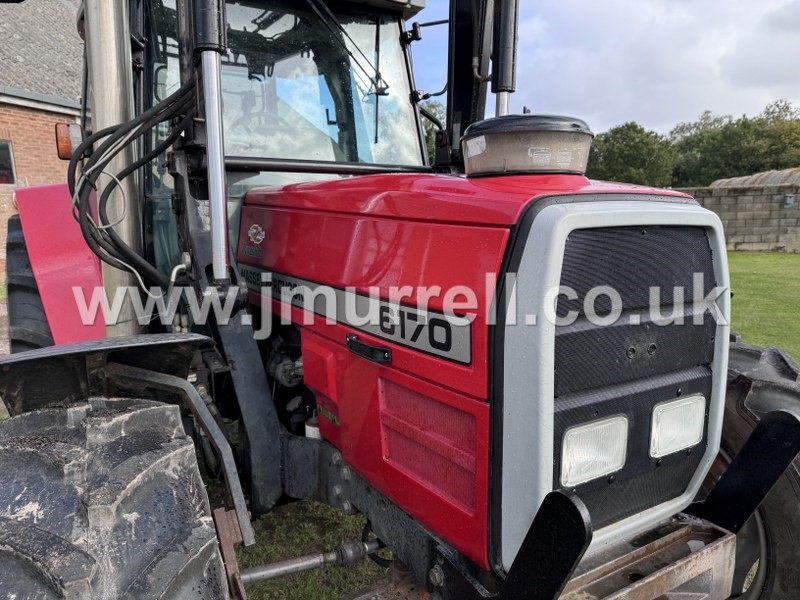
<path id="1" fill-rule="evenodd" d="M 575 487 L 625 466 L 628 419 L 622 415 L 571 427 L 561 450 L 561 485 Z"/>

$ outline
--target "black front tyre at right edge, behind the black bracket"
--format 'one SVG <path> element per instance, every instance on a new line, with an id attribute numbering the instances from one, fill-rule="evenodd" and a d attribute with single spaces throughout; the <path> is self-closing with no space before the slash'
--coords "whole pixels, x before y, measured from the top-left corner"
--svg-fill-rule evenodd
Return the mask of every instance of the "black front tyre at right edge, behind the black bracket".
<path id="1" fill-rule="evenodd" d="M 776 348 L 731 344 L 720 472 L 760 415 L 800 414 L 800 366 Z M 795 459 L 737 537 L 734 598 L 800 598 L 800 459 Z"/>

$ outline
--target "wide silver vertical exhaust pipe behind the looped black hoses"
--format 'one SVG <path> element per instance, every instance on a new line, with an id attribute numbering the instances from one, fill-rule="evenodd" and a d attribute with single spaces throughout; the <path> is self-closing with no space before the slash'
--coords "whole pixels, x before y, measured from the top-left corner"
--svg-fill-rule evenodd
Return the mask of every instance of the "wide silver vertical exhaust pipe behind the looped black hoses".
<path id="1" fill-rule="evenodd" d="M 89 89 L 92 98 L 92 129 L 100 131 L 106 127 L 127 123 L 133 118 L 133 70 L 131 67 L 131 36 L 126 0 L 86 0 L 84 3 L 86 30 L 86 56 L 89 68 Z M 106 167 L 116 175 L 134 161 L 134 146 L 124 148 Z M 98 197 L 111 181 L 100 176 Z M 117 223 L 114 231 L 137 254 L 142 253 L 141 207 L 136 174 L 121 181 L 120 189 L 111 195 L 108 202 L 108 217 Z M 124 206 L 127 201 L 127 210 Z M 124 219 L 120 221 L 120 217 Z M 103 287 L 110 299 L 117 289 L 137 287 L 132 273 L 120 271 L 102 263 Z M 142 326 L 136 318 L 133 303 L 128 294 L 122 304 L 117 321 L 106 323 L 109 337 L 140 333 Z"/>

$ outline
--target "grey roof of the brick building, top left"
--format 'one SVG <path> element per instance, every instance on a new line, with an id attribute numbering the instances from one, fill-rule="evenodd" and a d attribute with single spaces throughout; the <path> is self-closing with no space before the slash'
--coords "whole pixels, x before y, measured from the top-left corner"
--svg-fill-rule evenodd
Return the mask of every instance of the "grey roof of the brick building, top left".
<path id="1" fill-rule="evenodd" d="M 81 96 L 79 0 L 0 3 L 0 92 L 75 102 Z"/>

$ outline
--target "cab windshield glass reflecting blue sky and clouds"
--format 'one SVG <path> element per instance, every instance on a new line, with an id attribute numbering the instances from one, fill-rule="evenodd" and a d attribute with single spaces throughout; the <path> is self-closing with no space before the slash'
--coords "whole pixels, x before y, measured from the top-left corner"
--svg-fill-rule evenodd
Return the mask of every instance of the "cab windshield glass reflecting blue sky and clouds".
<path id="1" fill-rule="evenodd" d="M 179 85 L 175 0 L 154 24 L 158 95 Z M 423 164 L 401 22 L 320 0 L 227 2 L 225 154 Z"/>

